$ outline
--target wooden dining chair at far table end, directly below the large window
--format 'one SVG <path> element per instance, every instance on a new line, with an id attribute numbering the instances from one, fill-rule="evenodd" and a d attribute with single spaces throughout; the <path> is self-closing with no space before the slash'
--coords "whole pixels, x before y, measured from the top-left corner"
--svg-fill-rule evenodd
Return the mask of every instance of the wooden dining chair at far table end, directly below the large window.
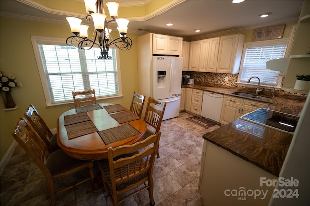
<path id="1" fill-rule="evenodd" d="M 74 101 L 74 106 L 80 107 L 80 106 L 87 106 L 87 105 L 92 105 L 96 104 L 96 94 L 95 90 L 88 90 L 88 91 L 76 91 L 72 92 L 73 96 L 73 101 Z"/>

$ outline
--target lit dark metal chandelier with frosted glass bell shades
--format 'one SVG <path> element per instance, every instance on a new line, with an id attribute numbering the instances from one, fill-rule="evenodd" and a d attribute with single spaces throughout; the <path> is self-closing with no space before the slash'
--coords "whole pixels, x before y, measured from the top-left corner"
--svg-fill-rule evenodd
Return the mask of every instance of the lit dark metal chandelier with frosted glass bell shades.
<path id="1" fill-rule="evenodd" d="M 117 18 L 118 3 L 108 2 L 106 3 L 112 20 L 107 21 L 103 0 L 84 0 L 86 13 L 86 21 L 93 18 L 95 30 L 93 31 L 92 39 L 88 39 L 88 26 L 81 25 L 82 20 L 75 17 L 67 17 L 71 32 L 74 36 L 67 38 L 66 43 L 68 46 L 74 46 L 79 49 L 89 50 L 94 45 L 98 46 L 101 50 L 101 55 L 97 56 L 98 59 L 112 59 L 109 55 L 109 47 L 115 45 L 120 50 L 129 50 L 132 45 L 132 40 L 126 36 L 129 20 L 124 18 Z M 112 39 L 108 24 L 110 22 L 117 23 L 117 29 L 120 33 L 120 37 Z"/>

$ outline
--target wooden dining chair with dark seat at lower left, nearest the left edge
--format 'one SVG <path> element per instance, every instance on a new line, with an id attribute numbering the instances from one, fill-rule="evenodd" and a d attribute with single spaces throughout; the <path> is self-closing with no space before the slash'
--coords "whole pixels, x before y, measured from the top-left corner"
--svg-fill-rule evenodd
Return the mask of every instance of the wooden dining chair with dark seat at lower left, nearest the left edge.
<path id="1" fill-rule="evenodd" d="M 64 153 L 62 149 L 49 154 L 47 147 L 39 137 L 39 134 L 31 127 L 27 126 L 27 120 L 25 118 L 20 118 L 12 136 L 46 177 L 47 191 L 51 197 L 51 206 L 55 205 L 57 193 L 71 189 L 90 179 L 93 181 L 94 173 L 92 161 L 71 158 Z M 90 177 L 82 179 L 80 179 L 80 177 L 75 178 L 72 185 L 65 185 L 65 188 L 56 191 L 54 186 L 55 179 L 74 174 L 84 169 L 89 170 Z"/>

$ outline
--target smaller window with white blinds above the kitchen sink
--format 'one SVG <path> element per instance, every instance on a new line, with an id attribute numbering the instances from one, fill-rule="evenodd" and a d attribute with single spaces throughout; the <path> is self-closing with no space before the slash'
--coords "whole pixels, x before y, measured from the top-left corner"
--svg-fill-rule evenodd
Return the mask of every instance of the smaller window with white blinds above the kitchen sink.
<path id="1" fill-rule="evenodd" d="M 280 87 L 282 77 L 280 72 L 266 68 L 266 62 L 284 58 L 287 47 L 287 40 L 284 41 L 262 41 L 246 43 L 239 73 L 239 83 L 247 84 L 249 78 L 257 76 L 261 85 Z M 258 80 L 252 79 L 251 84 Z"/>

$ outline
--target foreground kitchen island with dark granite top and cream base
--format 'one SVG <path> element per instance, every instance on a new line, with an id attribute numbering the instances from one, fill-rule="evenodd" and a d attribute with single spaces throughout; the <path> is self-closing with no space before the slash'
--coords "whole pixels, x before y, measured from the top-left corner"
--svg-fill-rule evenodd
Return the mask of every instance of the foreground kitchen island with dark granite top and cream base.
<path id="1" fill-rule="evenodd" d="M 293 135 L 237 119 L 203 135 L 204 206 L 268 206 Z"/>

